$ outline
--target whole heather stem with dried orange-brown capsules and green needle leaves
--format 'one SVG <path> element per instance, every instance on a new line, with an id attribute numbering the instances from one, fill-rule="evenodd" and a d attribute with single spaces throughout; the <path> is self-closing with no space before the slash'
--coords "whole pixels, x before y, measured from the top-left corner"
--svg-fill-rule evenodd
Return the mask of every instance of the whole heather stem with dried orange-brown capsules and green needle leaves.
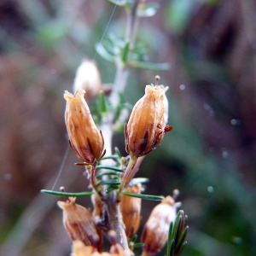
<path id="1" fill-rule="evenodd" d="M 96 53 L 115 64 L 113 84 L 110 87 L 102 84 L 95 61 L 84 60 L 77 70 L 73 93 L 64 92 L 69 144 L 77 154 L 76 165 L 84 166 L 89 189 L 73 193 L 61 187 L 60 191 L 43 189 L 42 192 L 67 197 L 57 204 L 73 241 L 72 255 L 134 255 L 135 248 L 140 247 L 140 254 L 146 256 L 159 253 L 166 244 L 166 255 L 179 255 L 186 244 L 188 226 L 187 216 L 183 211 L 177 212 L 181 206 L 177 202 L 178 191 L 175 189 L 172 196 L 147 195 L 144 190 L 148 178 L 137 177 L 142 162 L 172 131 L 168 125 L 168 87 L 160 84 L 156 75 L 154 84 L 146 85 L 144 96 L 137 99 L 132 110 L 124 102 L 131 68 L 157 72 L 168 67 L 166 63 L 145 61 L 145 49 L 136 40 L 139 18 L 150 19 L 158 5 L 142 0 L 109 2 L 114 8 L 123 8 L 127 17 L 124 38 L 110 35 L 96 44 Z M 112 143 L 113 134 L 119 129 L 124 131 L 127 155 L 122 155 Z M 91 197 L 92 212 L 89 206 L 76 202 L 79 196 Z M 142 200 L 160 202 L 137 239 Z"/>

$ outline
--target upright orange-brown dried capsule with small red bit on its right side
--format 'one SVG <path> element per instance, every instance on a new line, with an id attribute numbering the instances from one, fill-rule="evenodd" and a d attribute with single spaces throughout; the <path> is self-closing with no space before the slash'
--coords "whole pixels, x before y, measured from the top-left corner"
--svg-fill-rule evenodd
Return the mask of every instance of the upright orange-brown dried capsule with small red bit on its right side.
<path id="1" fill-rule="evenodd" d="M 132 156 L 143 156 L 151 152 L 163 139 L 171 126 L 168 119 L 168 101 L 163 85 L 146 85 L 145 95 L 132 109 L 125 125 L 125 149 Z"/>

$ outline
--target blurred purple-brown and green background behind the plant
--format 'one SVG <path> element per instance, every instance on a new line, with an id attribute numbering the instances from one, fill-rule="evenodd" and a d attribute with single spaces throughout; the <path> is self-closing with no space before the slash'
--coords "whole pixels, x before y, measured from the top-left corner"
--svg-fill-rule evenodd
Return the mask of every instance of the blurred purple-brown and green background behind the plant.
<path id="1" fill-rule="evenodd" d="M 170 87 L 173 131 L 143 162 L 139 174 L 150 178 L 145 193 L 180 190 L 189 216 L 183 255 L 255 255 L 256 1 L 154 2 L 160 9 L 140 20 L 137 41 L 148 48 L 149 61 L 170 69 L 131 70 L 125 100 L 135 103 L 159 74 Z M 103 83 L 113 82 L 115 67 L 95 49 L 113 7 L 105 0 L 0 3 L 3 256 L 70 253 L 59 198 L 40 189 L 87 190 L 67 149 L 62 95 L 72 90 L 84 58 L 97 62 Z M 122 37 L 124 26 L 125 11 L 117 7 L 106 36 Z M 122 132 L 114 143 L 125 154 Z M 79 203 L 91 207 L 88 198 Z M 143 201 L 143 223 L 154 205 Z"/>

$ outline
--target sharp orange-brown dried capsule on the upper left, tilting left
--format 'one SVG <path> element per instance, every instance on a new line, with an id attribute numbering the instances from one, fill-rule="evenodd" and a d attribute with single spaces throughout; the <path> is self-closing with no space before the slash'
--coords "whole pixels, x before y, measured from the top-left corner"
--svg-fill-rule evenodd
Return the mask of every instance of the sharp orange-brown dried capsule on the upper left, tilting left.
<path id="1" fill-rule="evenodd" d="M 104 139 L 102 131 L 97 130 L 92 119 L 90 109 L 84 100 L 84 93 L 84 90 L 79 89 L 73 96 L 65 90 L 65 122 L 73 150 L 86 164 L 96 165 L 96 161 L 105 154 Z"/>

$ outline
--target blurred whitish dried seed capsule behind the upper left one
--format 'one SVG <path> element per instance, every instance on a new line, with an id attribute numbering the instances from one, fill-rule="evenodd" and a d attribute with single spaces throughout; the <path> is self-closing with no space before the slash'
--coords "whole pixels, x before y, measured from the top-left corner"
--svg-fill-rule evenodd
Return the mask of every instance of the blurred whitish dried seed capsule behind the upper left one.
<path id="1" fill-rule="evenodd" d="M 86 91 L 86 100 L 95 98 L 102 90 L 102 79 L 95 61 L 84 60 L 78 67 L 73 83 L 73 91 L 79 89 Z"/>

